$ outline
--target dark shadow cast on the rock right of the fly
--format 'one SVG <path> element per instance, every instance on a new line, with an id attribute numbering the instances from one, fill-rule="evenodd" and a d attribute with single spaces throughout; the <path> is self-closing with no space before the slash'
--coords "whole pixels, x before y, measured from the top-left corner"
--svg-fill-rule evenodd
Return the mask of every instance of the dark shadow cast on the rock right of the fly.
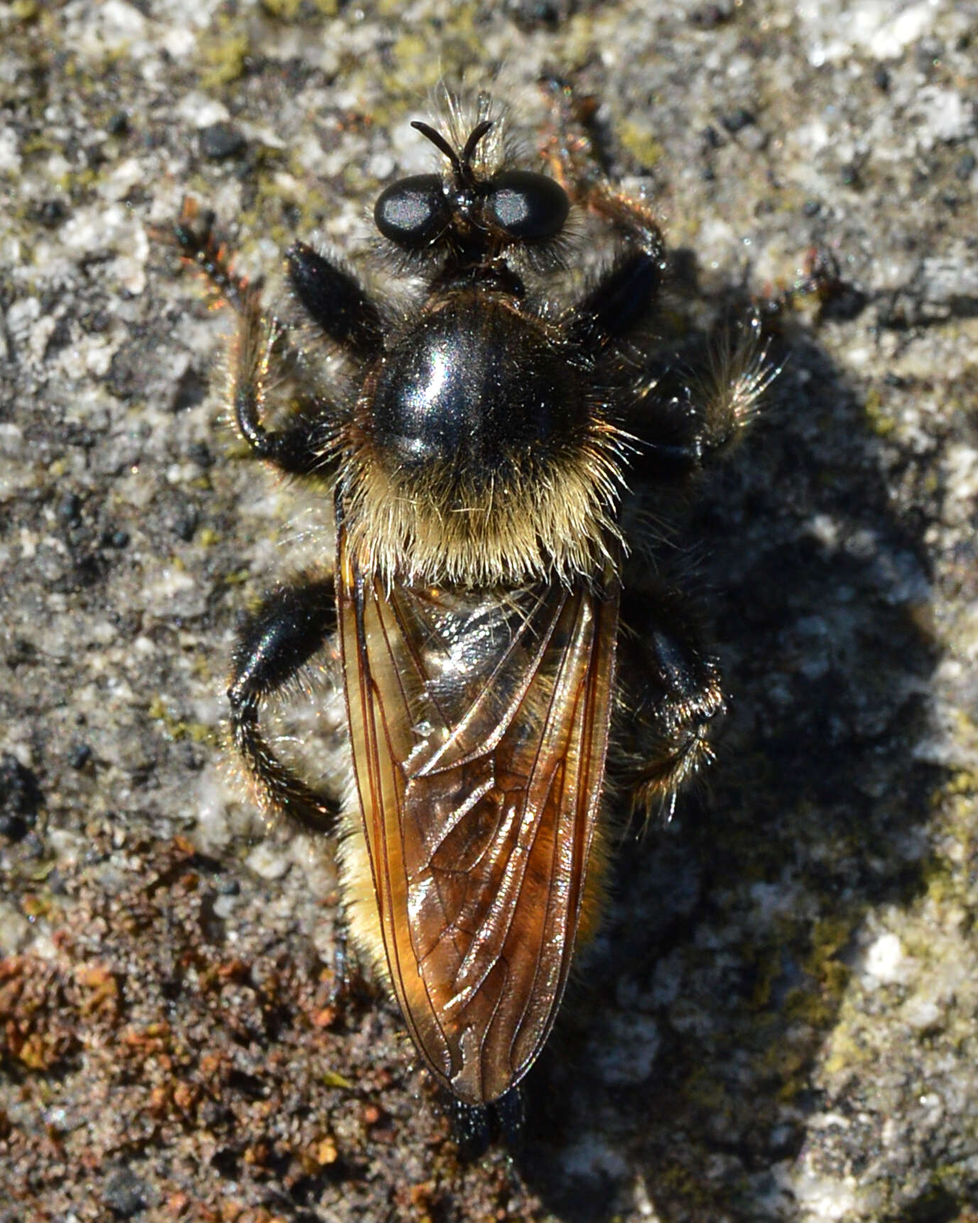
<path id="1" fill-rule="evenodd" d="M 745 311 L 738 291 L 719 307 Z M 795 1217 L 776 1167 L 818 1107 L 861 926 L 922 887 L 940 780 L 914 757 L 935 664 L 922 523 L 891 511 L 818 329 L 771 345 L 773 402 L 683 532 L 731 706 L 709 788 L 622 843 L 526 1082 L 518 1173 L 567 1223 L 643 1194 L 669 1223 Z"/>

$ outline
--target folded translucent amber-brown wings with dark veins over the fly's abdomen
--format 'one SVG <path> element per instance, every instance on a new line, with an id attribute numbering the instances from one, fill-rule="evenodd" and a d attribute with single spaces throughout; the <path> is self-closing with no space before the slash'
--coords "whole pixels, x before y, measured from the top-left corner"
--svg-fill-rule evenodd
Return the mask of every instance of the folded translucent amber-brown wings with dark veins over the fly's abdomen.
<path id="1" fill-rule="evenodd" d="M 340 637 L 390 975 L 432 1073 L 495 1099 L 567 981 L 600 799 L 617 593 L 385 591 L 340 534 Z"/>

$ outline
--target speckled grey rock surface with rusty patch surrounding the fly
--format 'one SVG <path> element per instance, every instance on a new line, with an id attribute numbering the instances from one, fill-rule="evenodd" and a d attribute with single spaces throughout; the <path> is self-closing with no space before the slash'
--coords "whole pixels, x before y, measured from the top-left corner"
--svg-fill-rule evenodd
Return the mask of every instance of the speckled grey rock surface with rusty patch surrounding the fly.
<path id="1" fill-rule="evenodd" d="M 328 854 L 226 763 L 236 616 L 329 523 L 241 461 L 154 227 L 192 193 L 274 290 L 295 236 L 369 249 L 443 73 L 533 131 L 543 70 L 682 311 L 841 284 L 685 531 L 709 788 L 466 1164 L 390 1003 L 330 1000 Z M 4 1223 L 978 1219 L 977 102 L 968 0 L 0 4 Z"/>

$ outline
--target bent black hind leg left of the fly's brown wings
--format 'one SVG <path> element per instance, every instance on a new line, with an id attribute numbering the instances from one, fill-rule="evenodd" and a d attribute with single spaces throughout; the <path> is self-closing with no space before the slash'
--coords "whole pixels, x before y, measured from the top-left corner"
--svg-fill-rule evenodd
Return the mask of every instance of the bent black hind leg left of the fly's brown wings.
<path id="1" fill-rule="evenodd" d="M 227 698 L 231 734 L 263 807 L 309 832 L 335 832 L 337 804 L 291 773 L 259 725 L 262 701 L 295 680 L 336 627 L 331 578 L 273 591 L 247 620 L 235 649 Z"/>

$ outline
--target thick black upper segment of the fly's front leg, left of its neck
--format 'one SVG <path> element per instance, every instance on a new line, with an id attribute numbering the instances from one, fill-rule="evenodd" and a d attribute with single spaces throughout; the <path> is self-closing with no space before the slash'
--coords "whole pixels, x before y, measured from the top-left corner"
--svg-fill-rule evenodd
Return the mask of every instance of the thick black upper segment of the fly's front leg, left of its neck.
<path id="1" fill-rule="evenodd" d="M 296 296 L 330 340 L 361 358 L 380 352 L 380 312 L 348 272 L 304 242 L 290 247 L 285 262 Z"/>

